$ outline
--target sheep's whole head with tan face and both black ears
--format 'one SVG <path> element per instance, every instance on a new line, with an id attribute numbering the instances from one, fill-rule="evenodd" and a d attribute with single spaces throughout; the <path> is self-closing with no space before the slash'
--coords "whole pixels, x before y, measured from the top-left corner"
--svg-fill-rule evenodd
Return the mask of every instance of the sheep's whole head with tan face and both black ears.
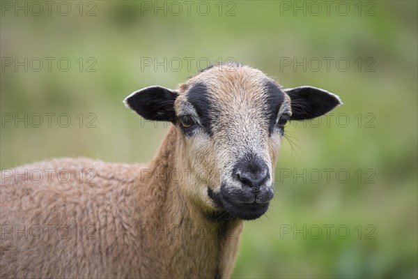
<path id="1" fill-rule="evenodd" d="M 273 197 L 274 166 L 288 120 L 311 119 L 340 104 L 302 86 L 281 89 L 248 66 L 212 66 L 178 91 L 152 86 L 125 104 L 150 120 L 171 121 L 181 135 L 180 161 L 192 174 L 183 190 L 206 212 L 256 219 Z"/>

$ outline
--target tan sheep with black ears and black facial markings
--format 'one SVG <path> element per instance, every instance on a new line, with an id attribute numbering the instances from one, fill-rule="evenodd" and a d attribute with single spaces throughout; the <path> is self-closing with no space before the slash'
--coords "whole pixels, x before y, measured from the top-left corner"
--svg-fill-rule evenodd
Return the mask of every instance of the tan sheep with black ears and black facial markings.
<path id="1" fill-rule="evenodd" d="M 229 278 L 244 220 L 273 197 L 286 122 L 341 100 L 229 63 L 124 103 L 172 124 L 149 165 L 61 158 L 1 172 L 1 278 Z"/>

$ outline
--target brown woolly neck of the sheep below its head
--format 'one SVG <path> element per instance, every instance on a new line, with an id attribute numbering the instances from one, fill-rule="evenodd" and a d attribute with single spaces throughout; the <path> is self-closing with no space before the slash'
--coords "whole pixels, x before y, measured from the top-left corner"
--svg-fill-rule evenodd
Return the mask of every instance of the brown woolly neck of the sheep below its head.
<path id="1" fill-rule="evenodd" d="M 148 191 L 153 194 L 150 216 L 158 218 L 147 222 L 153 225 L 153 239 L 148 240 L 154 241 L 158 246 L 155 248 L 164 255 L 155 264 L 159 265 L 162 277 L 208 277 L 208 274 L 215 278 L 229 277 L 238 251 L 242 220 L 204 213 L 184 194 L 181 182 L 167 175 L 175 169 L 186 169 L 181 165 L 183 160 L 179 160 L 181 142 L 178 130 L 171 127 L 150 163 L 154 176 L 153 182 L 148 183 Z"/>

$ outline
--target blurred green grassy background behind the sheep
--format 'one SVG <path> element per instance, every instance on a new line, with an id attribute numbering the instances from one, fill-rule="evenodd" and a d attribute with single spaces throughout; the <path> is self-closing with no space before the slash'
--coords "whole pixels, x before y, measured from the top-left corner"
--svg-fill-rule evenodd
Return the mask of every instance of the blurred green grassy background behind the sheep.
<path id="1" fill-rule="evenodd" d="M 123 98 L 238 61 L 344 105 L 288 124 L 233 278 L 417 278 L 417 1 L 324 2 L 2 1 L 1 169 L 147 162 L 167 127 Z"/>

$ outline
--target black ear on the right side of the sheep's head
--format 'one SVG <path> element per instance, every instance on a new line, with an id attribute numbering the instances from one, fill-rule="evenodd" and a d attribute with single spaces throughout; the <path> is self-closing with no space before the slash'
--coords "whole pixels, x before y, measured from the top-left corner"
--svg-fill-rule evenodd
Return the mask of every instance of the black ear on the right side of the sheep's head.
<path id="1" fill-rule="evenodd" d="M 291 120 L 313 119 L 341 105 L 339 96 L 312 86 L 284 89 L 291 97 Z"/>

